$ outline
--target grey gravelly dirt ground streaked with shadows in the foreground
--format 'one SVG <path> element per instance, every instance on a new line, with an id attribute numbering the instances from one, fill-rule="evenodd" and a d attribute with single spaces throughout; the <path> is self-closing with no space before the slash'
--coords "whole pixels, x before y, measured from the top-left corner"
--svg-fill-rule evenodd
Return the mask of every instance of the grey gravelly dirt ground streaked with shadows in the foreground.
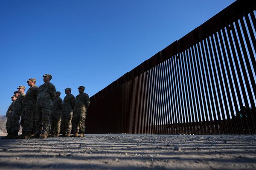
<path id="1" fill-rule="evenodd" d="M 0 169 L 255 170 L 256 136 L 94 134 L 0 139 Z"/>

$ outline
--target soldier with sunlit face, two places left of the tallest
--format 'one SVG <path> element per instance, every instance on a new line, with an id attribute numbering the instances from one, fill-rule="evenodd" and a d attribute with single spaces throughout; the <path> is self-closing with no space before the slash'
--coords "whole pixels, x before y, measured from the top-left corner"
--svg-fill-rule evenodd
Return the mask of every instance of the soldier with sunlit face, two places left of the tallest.
<path id="1" fill-rule="evenodd" d="M 18 89 L 18 92 L 20 92 L 20 94 L 14 103 L 14 111 L 12 112 L 12 120 L 11 120 L 12 135 L 10 135 L 9 138 L 6 138 L 6 139 L 17 138 L 18 132 L 20 130 L 20 116 L 22 114 L 23 102 L 25 98 L 24 91 L 26 87 L 23 85 L 20 85 L 17 89 Z"/>

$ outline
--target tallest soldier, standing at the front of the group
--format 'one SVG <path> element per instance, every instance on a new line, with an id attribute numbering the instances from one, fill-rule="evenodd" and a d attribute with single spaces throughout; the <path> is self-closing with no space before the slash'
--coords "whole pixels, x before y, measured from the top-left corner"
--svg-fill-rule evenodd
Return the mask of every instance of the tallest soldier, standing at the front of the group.
<path id="1" fill-rule="evenodd" d="M 44 84 L 38 88 L 35 111 L 35 135 L 32 138 L 47 138 L 53 101 L 56 98 L 55 86 L 50 82 L 52 75 L 45 74 Z"/>

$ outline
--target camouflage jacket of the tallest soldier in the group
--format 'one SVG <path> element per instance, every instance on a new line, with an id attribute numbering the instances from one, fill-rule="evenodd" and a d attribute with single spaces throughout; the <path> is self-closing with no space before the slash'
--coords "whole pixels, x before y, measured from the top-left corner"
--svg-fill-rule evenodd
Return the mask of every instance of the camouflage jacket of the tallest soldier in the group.
<path id="1" fill-rule="evenodd" d="M 44 83 L 38 88 L 36 106 L 52 108 L 53 100 L 55 98 L 56 98 L 55 86 L 51 82 Z"/>

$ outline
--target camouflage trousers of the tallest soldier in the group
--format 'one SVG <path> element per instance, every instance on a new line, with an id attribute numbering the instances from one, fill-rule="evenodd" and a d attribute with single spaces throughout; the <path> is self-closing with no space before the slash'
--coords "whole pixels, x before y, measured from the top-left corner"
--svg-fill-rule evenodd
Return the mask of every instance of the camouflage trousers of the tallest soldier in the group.
<path id="1" fill-rule="evenodd" d="M 48 134 L 52 108 L 36 107 L 35 109 L 35 134 Z"/>

